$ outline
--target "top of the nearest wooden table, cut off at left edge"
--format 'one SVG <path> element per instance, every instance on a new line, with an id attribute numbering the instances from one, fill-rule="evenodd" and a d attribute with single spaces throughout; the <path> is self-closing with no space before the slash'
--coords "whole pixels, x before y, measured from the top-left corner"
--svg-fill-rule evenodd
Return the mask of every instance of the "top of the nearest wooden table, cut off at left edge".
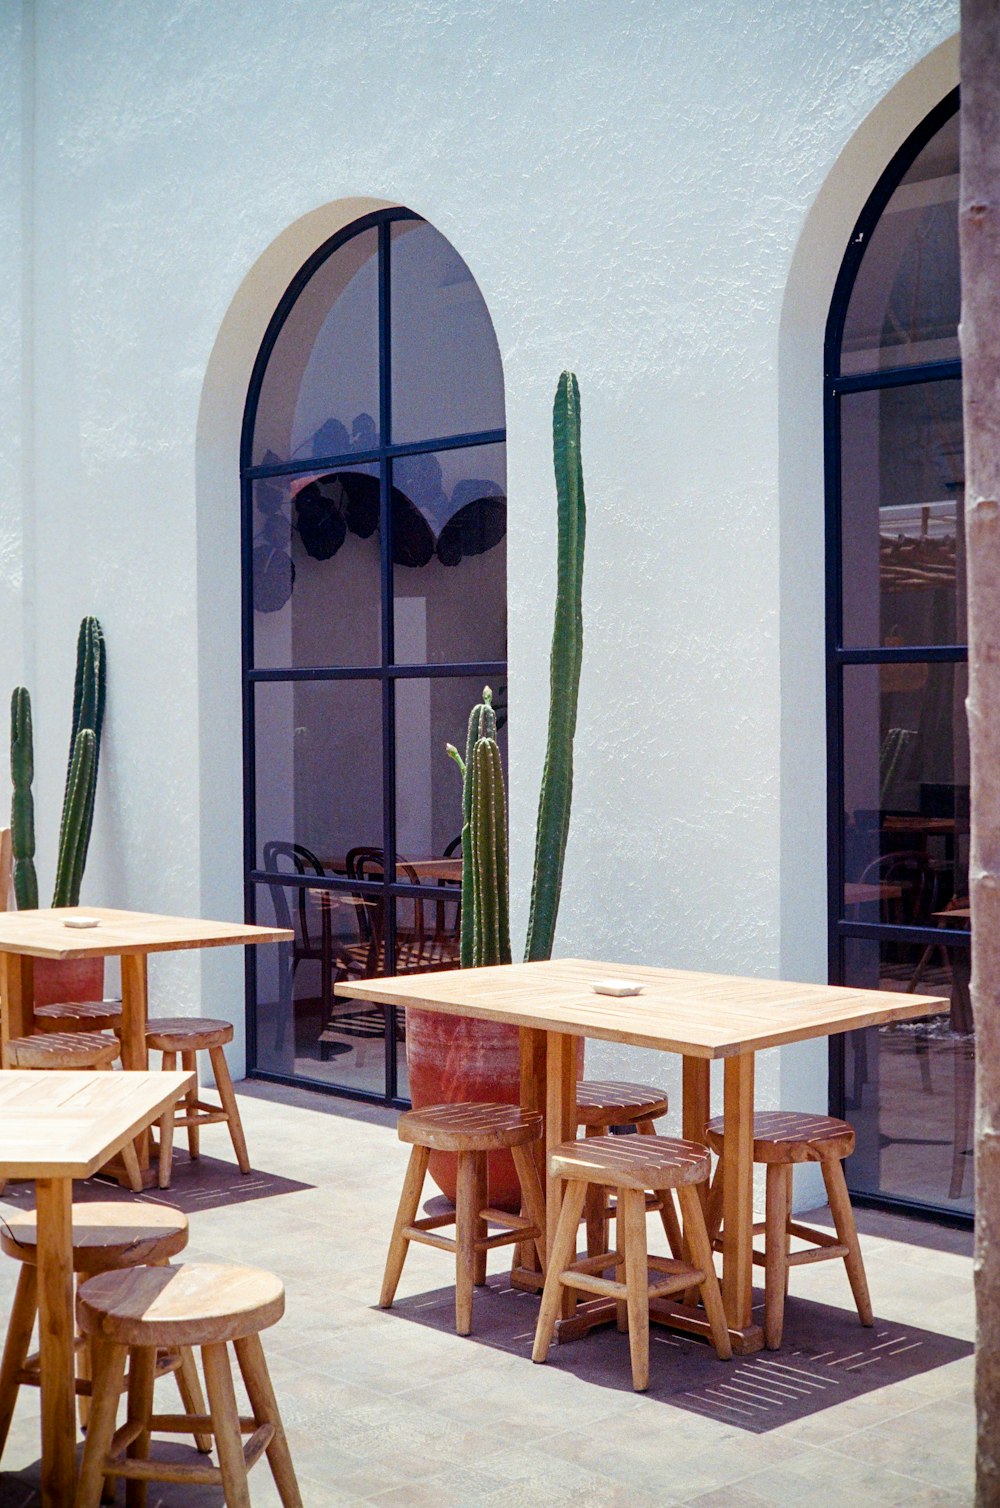
<path id="1" fill-rule="evenodd" d="M 193 1087 L 187 1072 L 0 1074 L 0 1179 L 89 1178 Z"/>

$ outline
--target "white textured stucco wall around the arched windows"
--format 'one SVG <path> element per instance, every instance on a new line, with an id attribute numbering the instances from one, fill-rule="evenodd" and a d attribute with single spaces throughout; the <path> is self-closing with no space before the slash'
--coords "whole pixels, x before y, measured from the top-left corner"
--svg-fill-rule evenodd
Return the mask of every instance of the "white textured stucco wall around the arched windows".
<path id="1" fill-rule="evenodd" d="M 250 362 L 309 250 L 404 204 L 469 264 L 505 366 L 516 936 L 572 366 L 587 650 L 558 949 L 822 977 L 822 327 L 858 210 L 955 83 L 956 26 L 955 0 L 9 0 L 0 665 L 35 697 L 42 884 L 95 611 L 84 899 L 240 914 Z M 222 952 L 152 988 L 240 1019 Z M 822 1051 L 786 1059 L 762 1104 L 783 1078 L 822 1102 Z"/>

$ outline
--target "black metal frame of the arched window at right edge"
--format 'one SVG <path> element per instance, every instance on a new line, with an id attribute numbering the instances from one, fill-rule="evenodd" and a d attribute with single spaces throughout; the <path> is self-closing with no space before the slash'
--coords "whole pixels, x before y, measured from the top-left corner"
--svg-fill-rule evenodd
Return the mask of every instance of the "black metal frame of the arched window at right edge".
<path id="1" fill-rule="evenodd" d="M 843 781 L 843 679 L 851 665 L 949 664 L 968 661 L 967 644 L 908 644 L 900 647 L 843 644 L 842 591 L 842 492 L 840 492 L 840 403 L 849 394 L 900 388 L 913 383 L 949 382 L 962 375 L 961 359 L 885 366 L 863 372 L 840 372 L 845 321 L 854 284 L 872 234 L 900 179 L 928 142 L 958 113 L 959 90 L 950 90 L 906 137 L 869 196 L 845 252 L 827 320 L 824 342 L 824 464 L 825 464 L 825 555 L 827 555 L 827 936 L 831 985 L 845 983 L 845 941 L 869 938 L 878 942 L 940 944 L 934 927 L 852 921 L 843 915 L 845 894 L 845 781 Z M 971 933 L 949 929 L 949 946 L 970 946 Z M 830 1113 L 845 1114 L 846 1039 L 830 1038 Z M 968 1228 L 973 1215 L 943 1205 L 893 1194 L 851 1190 L 857 1205 L 890 1209 Z"/>

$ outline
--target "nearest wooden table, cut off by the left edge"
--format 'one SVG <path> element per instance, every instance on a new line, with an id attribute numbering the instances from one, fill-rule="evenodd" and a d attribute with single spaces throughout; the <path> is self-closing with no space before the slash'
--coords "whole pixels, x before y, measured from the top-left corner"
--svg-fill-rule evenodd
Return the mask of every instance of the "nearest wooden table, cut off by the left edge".
<path id="1" fill-rule="evenodd" d="M 75 1491 L 72 1179 L 89 1178 L 157 1120 L 193 1074 L 0 1074 L 0 1179 L 38 1191 L 38 1332 L 42 1384 L 42 1503 Z"/>

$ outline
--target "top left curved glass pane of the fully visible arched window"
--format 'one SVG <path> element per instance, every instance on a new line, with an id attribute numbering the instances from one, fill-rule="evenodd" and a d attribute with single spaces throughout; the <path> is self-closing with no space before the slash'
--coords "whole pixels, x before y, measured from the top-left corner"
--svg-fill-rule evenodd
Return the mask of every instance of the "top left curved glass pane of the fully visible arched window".
<path id="1" fill-rule="evenodd" d="M 285 320 L 261 385 L 253 464 L 309 461 L 379 443 L 379 232 L 317 268 Z"/>

